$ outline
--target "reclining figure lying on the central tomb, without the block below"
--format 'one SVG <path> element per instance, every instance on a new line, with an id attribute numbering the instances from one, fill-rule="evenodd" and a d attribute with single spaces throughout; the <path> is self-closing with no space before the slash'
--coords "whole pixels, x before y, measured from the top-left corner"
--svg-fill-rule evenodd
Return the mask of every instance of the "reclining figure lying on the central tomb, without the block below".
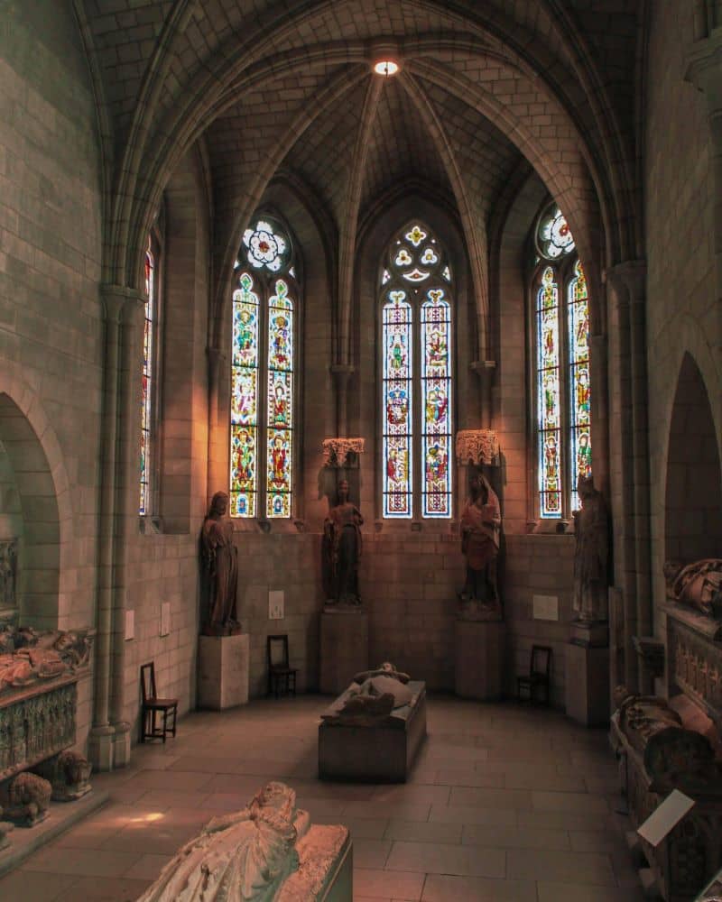
<path id="1" fill-rule="evenodd" d="M 339 706 L 330 713 L 321 714 L 326 723 L 345 723 L 355 726 L 383 722 L 395 708 L 412 704 L 413 693 L 407 686 L 409 675 L 400 673 L 389 661 L 375 670 L 356 674 Z"/>

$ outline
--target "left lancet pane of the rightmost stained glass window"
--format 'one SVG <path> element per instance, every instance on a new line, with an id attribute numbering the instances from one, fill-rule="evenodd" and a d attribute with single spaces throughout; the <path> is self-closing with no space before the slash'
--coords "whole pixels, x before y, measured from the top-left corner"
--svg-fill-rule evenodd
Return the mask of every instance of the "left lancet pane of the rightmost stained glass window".
<path id="1" fill-rule="evenodd" d="M 542 517 L 561 516 L 559 291 L 547 266 L 537 292 L 537 405 Z"/>

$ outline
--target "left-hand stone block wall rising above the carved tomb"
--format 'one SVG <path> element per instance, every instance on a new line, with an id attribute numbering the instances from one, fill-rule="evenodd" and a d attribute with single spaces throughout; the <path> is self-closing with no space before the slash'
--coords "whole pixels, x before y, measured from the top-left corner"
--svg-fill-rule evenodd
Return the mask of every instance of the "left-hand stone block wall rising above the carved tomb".
<path id="1" fill-rule="evenodd" d="M 38 462 L 33 469 L 22 454 L 22 472 L 4 465 L 3 523 L 6 534 L 18 517 L 33 520 L 35 538 L 19 560 L 21 573 L 33 574 L 24 583 L 32 593 L 20 598 L 23 621 L 67 629 L 95 621 L 103 337 L 96 115 L 71 6 L 5 5 L 2 18 L 0 391 L 9 403 L 0 440 L 29 441 Z M 47 511 L 60 515 L 43 524 Z M 81 746 L 91 698 L 92 681 L 81 680 Z"/>

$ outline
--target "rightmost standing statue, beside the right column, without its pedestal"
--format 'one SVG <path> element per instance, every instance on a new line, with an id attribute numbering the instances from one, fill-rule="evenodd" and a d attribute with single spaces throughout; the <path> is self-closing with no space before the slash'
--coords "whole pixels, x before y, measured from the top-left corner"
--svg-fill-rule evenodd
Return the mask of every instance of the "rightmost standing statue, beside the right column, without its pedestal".
<path id="1" fill-rule="evenodd" d="M 606 621 L 609 617 L 609 517 L 601 492 L 591 476 L 579 476 L 577 492 L 581 501 L 574 511 L 574 600 L 580 621 Z"/>

